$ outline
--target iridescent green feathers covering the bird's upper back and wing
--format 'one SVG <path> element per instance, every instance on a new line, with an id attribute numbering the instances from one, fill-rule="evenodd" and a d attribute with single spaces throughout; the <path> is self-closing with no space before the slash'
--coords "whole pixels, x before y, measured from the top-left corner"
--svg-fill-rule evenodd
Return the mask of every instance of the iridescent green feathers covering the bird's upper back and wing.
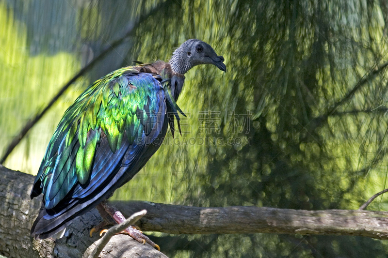
<path id="1" fill-rule="evenodd" d="M 132 83 L 130 80 L 136 77 L 136 74 L 138 74 L 137 70 L 128 67 L 102 77 L 66 110 L 50 141 L 44 158 L 45 162 L 38 172 L 37 180 L 41 181 L 43 193 L 46 191 L 53 193 L 52 196 L 45 196 L 45 205 L 55 206 L 57 200 L 54 200 L 55 203 L 50 203 L 52 198 L 58 198 L 59 201 L 70 190 L 62 186 L 63 183 L 71 183 L 68 176 L 64 179 L 67 174 L 61 173 L 62 170 L 76 173 L 77 180 L 81 184 L 88 181 L 96 146 L 102 133 L 106 135 L 112 152 L 120 148 L 124 134 L 130 142 L 142 136 L 143 126 L 136 112 L 138 109 L 142 110 L 147 118 L 144 106 L 149 105 L 152 109 L 155 107 L 155 103 L 148 103 L 148 96 L 156 94 L 155 89 L 158 88 L 155 88 L 154 81 L 147 78 L 135 79 L 134 85 L 130 85 Z M 74 144 L 76 140 L 79 145 Z M 60 145 L 61 142 L 64 146 Z M 60 160 L 57 160 L 58 154 L 55 153 L 58 153 L 61 148 L 63 151 L 61 156 L 58 156 Z M 73 168 L 70 167 L 72 157 L 75 159 Z M 51 178 L 54 172 L 57 173 L 55 182 Z"/>

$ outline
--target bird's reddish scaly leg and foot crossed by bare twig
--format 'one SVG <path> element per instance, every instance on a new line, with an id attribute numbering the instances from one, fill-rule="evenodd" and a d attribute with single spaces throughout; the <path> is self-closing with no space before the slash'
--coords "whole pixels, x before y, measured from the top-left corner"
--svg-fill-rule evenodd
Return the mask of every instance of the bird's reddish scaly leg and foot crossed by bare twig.
<path id="1" fill-rule="evenodd" d="M 121 224 L 126 220 L 126 218 L 123 216 L 123 214 L 121 212 L 119 212 L 113 206 L 109 206 L 105 201 L 101 202 L 100 205 L 101 205 L 101 207 L 103 207 L 105 212 L 107 212 L 109 215 L 111 215 L 111 217 L 113 218 L 113 220 L 117 224 Z M 156 243 L 151 241 L 147 236 L 145 236 L 143 234 L 142 231 L 140 231 L 134 227 L 128 227 L 124 231 L 122 231 L 121 233 L 129 235 L 130 237 L 132 237 L 134 240 L 136 240 L 139 243 L 143 243 L 143 244 L 149 243 L 152 247 L 157 248 L 159 251 L 161 250 L 159 245 L 157 245 Z"/>

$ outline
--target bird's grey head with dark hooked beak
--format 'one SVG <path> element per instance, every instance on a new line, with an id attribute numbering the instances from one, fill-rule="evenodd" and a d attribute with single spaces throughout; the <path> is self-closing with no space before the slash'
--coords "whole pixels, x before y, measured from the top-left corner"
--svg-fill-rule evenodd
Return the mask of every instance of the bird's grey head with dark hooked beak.
<path id="1" fill-rule="evenodd" d="M 224 57 L 217 56 L 213 48 L 200 40 L 189 39 L 180 45 L 171 57 L 170 64 L 174 72 L 185 74 L 198 64 L 210 63 L 226 72 Z"/>

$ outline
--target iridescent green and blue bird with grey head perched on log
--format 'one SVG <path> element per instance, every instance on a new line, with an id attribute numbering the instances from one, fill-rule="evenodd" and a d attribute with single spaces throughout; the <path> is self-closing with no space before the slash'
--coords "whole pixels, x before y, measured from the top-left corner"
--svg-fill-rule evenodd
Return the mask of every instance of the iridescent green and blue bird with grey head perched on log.
<path id="1" fill-rule="evenodd" d="M 190 39 L 168 62 L 120 68 L 83 91 L 65 111 L 35 177 L 30 197 L 43 194 L 43 200 L 31 236 L 60 238 L 94 207 L 122 223 L 124 216 L 106 199 L 146 165 L 168 128 L 174 137 L 175 121 L 181 134 L 179 114 L 185 114 L 177 101 L 184 74 L 200 64 L 226 72 L 224 61 L 209 44 Z M 99 226 L 106 224 L 104 218 Z M 160 249 L 135 228 L 124 233 Z"/>

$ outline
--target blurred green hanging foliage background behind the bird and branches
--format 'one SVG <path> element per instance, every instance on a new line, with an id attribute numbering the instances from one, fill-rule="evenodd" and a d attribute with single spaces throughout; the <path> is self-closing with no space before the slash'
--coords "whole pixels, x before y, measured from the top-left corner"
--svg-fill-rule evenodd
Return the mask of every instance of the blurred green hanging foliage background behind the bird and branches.
<path id="1" fill-rule="evenodd" d="M 90 83 L 134 60 L 167 61 L 198 38 L 225 57 L 227 73 L 209 65 L 186 74 L 185 133 L 168 133 L 113 199 L 358 209 L 388 188 L 387 22 L 379 0 L 0 0 L 0 155 L 106 52 L 3 165 L 36 174 L 65 109 Z M 387 211 L 387 197 L 367 209 Z M 387 241 L 351 236 L 152 239 L 174 258 L 388 257 Z"/>

